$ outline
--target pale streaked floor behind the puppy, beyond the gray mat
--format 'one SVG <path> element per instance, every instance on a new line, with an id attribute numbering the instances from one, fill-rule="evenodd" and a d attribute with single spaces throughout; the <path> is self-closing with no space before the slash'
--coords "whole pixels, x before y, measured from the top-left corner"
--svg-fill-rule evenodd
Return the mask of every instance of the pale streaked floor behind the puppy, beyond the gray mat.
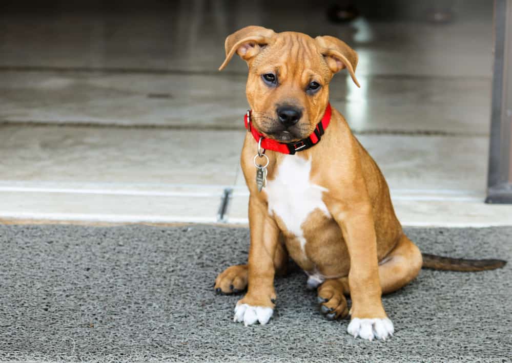
<path id="1" fill-rule="evenodd" d="M 155 4 L 0 14 L 0 220 L 214 223 L 233 188 L 223 221 L 247 223 L 245 66 L 216 68 L 227 34 L 262 24 L 358 51 L 361 89 L 340 74 L 331 102 L 382 168 L 403 224 L 510 224 L 512 206 L 483 203 L 492 4 L 453 3 L 449 24 L 350 25 L 307 2 L 284 21 L 265 1 Z"/>

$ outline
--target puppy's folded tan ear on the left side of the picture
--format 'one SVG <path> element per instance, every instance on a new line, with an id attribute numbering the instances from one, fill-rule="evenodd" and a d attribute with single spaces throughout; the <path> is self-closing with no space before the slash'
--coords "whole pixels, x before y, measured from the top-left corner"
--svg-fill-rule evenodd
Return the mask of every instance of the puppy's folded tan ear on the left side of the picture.
<path id="1" fill-rule="evenodd" d="M 219 71 L 228 65 L 235 52 L 243 60 L 249 61 L 259 53 L 260 46 L 271 42 L 274 34 L 275 32 L 272 29 L 251 25 L 229 35 L 224 43 L 226 59 L 224 59 L 224 62 L 219 67 Z"/>

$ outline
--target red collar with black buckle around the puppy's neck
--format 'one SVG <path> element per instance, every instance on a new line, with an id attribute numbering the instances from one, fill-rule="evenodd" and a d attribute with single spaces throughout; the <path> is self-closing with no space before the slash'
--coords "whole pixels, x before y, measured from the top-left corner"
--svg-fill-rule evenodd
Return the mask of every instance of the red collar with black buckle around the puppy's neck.
<path id="1" fill-rule="evenodd" d="M 252 127 L 250 117 L 251 111 L 247 111 L 247 114 L 245 114 L 244 117 L 245 129 L 247 129 L 248 131 L 251 132 L 251 134 L 253 134 L 256 142 L 258 142 L 259 139 L 261 138 L 262 148 L 264 148 L 265 150 L 272 150 L 283 154 L 293 155 L 298 151 L 309 149 L 310 147 L 313 147 L 315 144 L 320 142 L 320 138 L 324 134 L 325 129 L 327 129 L 327 126 L 329 126 L 329 122 L 331 121 L 331 104 L 327 103 L 325 113 L 323 114 L 323 117 L 320 120 L 320 122 L 318 122 L 318 124 L 316 125 L 313 134 L 311 134 L 308 138 L 296 142 L 291 142 L 288 144 L 272 139 L 266 139 L 263 136 L 263 134 L 259 133 L 258 130 L 256 130 L 256 127 Z"/>

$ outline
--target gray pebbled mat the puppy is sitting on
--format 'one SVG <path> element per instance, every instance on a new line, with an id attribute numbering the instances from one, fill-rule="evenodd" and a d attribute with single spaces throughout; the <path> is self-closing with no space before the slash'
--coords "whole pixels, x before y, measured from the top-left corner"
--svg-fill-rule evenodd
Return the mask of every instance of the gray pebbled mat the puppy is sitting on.
<path id="1" fill-rule="evenodd" d="M 422 250 L 512 261 L 512 227 L 414 228 Z M 0 361 L 487 362 L 512 357 L 512 263 L 422 270 L 384 297 L 388 341 L 326 321 L 294 265 L 267 326 L 233 323 L 216 274 L 244 262 L 248 230 L 212 226 L 0 226 Z"/>

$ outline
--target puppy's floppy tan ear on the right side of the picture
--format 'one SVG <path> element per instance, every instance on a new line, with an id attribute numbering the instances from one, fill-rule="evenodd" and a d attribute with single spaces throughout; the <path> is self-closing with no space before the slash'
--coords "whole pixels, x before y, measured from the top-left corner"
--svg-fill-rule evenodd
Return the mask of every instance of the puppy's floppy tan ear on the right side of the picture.
<path id="1" fill-rule="evenodd" d="M 356 51 L 334 36 L 317 36 L 315 41 L 331 72 L 338 73 L 346 68 L 356 86 L 361 87 L 354 73 L 357 66 Z"/>

